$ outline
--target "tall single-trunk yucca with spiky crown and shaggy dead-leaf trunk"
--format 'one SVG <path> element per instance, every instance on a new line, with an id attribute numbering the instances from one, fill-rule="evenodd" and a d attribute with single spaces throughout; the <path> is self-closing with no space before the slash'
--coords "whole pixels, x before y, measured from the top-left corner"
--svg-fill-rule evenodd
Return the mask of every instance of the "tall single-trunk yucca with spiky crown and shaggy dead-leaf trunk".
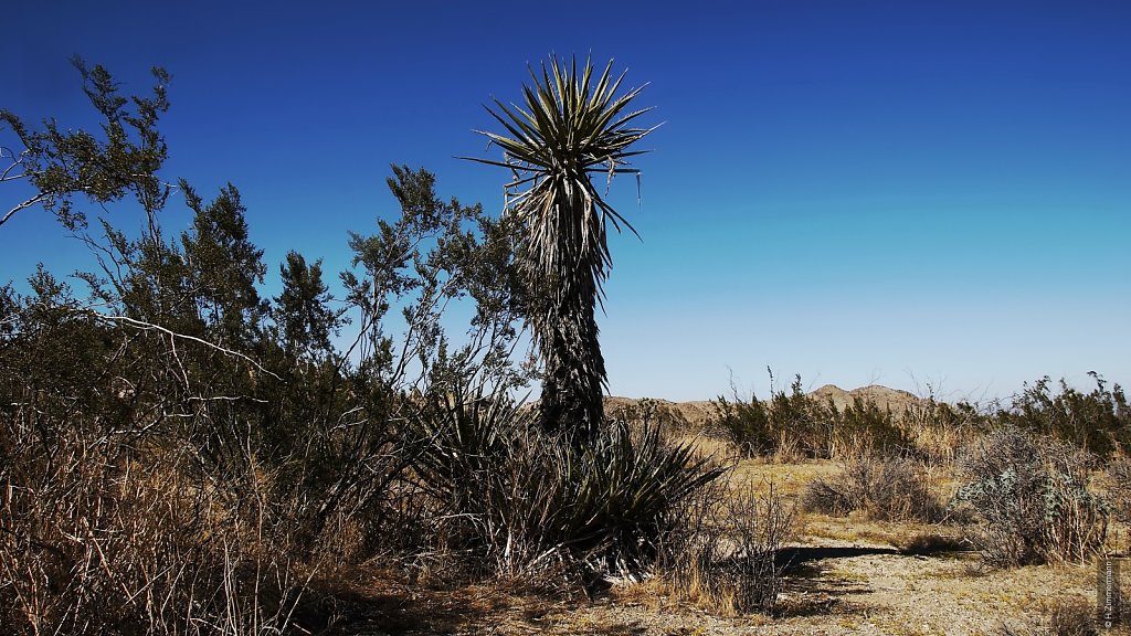
<path id="1" fill-rule="evenodd" d="M 624 78 L 612 61 L 595 77 L 590 60 L 579 70 L 551 58 L 541 72 L 530 68 L 524 105 L 494 100 L 487 106 L 503 134 L 477 131 L 503 151 L 502 161 L 475 158 L 509 169 L 506 212 L 520 227 L 516 260 L 529 299 L 527 323 L 543 362 L 541 419 L 549 431 L 592 439 L 604 419 L 605 361 L 597 341 L 595 310 L 612 260 L 606 226 L 636 230 L 602 197 L 615 174 L 637 174 L 630 146 L 651 128 L 631 123 L 650 109 L 631 110 L 640 93 L 618 96 Z M 638 182 L 639 184 L 639 182 Z"/>

